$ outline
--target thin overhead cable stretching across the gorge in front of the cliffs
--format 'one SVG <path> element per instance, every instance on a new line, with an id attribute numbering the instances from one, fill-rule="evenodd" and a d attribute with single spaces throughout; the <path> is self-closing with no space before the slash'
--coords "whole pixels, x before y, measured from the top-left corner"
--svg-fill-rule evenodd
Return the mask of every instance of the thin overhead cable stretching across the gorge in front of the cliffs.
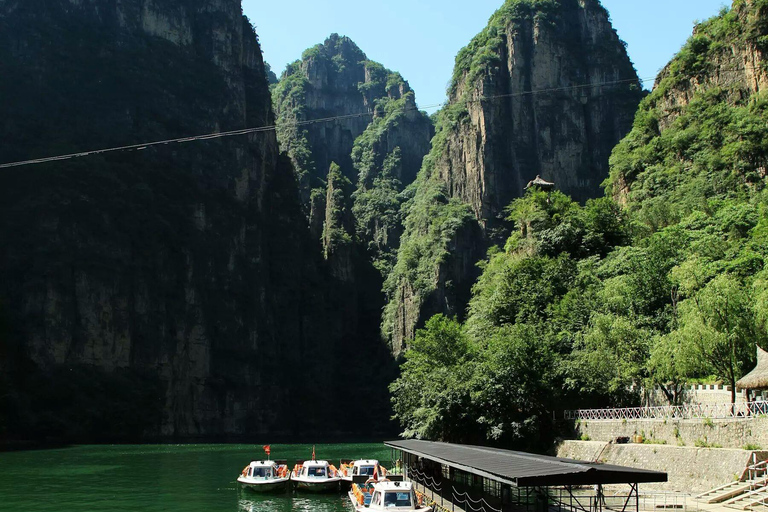
<path id="1" fill-rule="evenodd" d="M 632 84 L 632 83 L 639 83 L 646 79 L 639 79 L 639 78 L 631 78 L 631 79 L 625 79 L 625 80 L 614 80 L 611 82 L 601 82 L 601 83 L 592 83 L 592 84 L 581 84 L 581 85 L 571 85 L 571 86 L 564 86 L 564 87 L 555 87 L 555 88 L 549 88 L 549 89 L 537 89 L 537 90 L 531 90 L 531 91 L 521 91 L 516 93 L 509 93 L 509 94 L 496 94 L 496 95 L 490 95 L 490 96 L 482 96 L 479 98 L 474 99 L 468 99 L 459 101 L 457 103 L 463 103 L 463 104 L 470 104 L 470 103 L 479 103 L 483 101 L 490 101 L 490 100 L 496 100 L 496 99 L 503 99 L 503 98 L 515 98 L 515 97 L 523 97 L 523 96 L 530 96 L 530 95 L 536 95 L 536 94 L 548 94 L 553 92 L 563 92 L 563 91 L 569 91 L 569 90 L 577 90 L 577 89 L 586 89 L 586 88 L 592 88 L 592 87 L 607 87 L 610 85 L 621 85 L 621 84 Z M 447 105 L 448 102 L 443 103 L 436 103 L 434 105 L 427 105 L 424 107 L 408 107 L 402 109 L 403 112 L 407 111 L 418 111 L 418 110 L 425 110 L 430 108 L 437 108 L 437 107 L 443 107 Z M 367 117 L 367 116 L 373 116 L 375 115 L 375 112 L 362 112 L 358 114 L 347 114 L 342 116 L 333 116 L 333 117 L 325 117 L 320 119 L 309 119 L 306 121 L 295 121 L 292 123 L 287 123 L 284 126 L 287 127 L 300 127 L 300 126 L 309 126 L 313 124 L 319 124 L 319 123 L 327 123 L 330 121 L 341 121 L 345 119 L 354 119 L 354 118 L 360 118 L 360 117 Z M 8 169 L 11 167 L 21 167 L 26 165 L 34 165 L 34 164 L 43 164 L 43 163 L 49 163 L 49 162 L 59 162 L 62 160 L 72 160 L 75 158 L 83 158 L 86 156 L 93 156 L 93 155 L 103 155 L 107 153 L 116 153 L 120 151 L 143 151 L 147 148 L 154 147 L 154 146 L 162 146 L 167 144 L 184 144 L 187 142 L 196 142 L 196 141 L 203 141 L 203 140 L 213 140 L 213 139 L 221 139 L 224 137 L 234 137 L 238 135 L 250 135 L 254 133 L 262 133 L 262 132 L 271 132 L 275 131 L 277 129 L 277 125 L 269 125 L 269 126 L 259 126 L 255 128 L 243 128 L 240 130 L 231 130 L 226 132 L 216 132 L 216 133 L 208 133 L 204 135 L 195 135 L 191 137 L 180 137 L 176 139 L 167 139 L 167 140 L 160 140 L 155 142 L 144 142 L 140 144 L 130 144 L 126 146 L 117 146 L 117 147 L 111 147 L 111 148 L 105 148 L 105 149 L 96 149 L 92 151 L 82 151 L 79 153 L 69 153 L 66 155 L 58 155 L 58 156 L 50 156 L 45 158 L 35 158 L 30 160 L 22 160 L 18 162 L 10 162 L 5 164 L 0 164 L 0 169 Z"/>

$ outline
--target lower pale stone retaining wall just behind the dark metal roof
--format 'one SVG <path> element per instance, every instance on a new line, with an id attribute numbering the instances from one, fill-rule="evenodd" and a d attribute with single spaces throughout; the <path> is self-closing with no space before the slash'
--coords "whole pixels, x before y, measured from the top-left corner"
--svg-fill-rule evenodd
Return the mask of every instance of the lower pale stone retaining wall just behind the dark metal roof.
<path id="1" fill-rule="evenodd" d="M 641 484 L 642 491 L 665 490 L 696 494 L 741 478 L 753 460 L 768 452 L 725 448 L 691 448 L 652 444 L 610 444 L 598 441 L 563 441 L 557 456 L 664 471 L 664 484 Z"/>

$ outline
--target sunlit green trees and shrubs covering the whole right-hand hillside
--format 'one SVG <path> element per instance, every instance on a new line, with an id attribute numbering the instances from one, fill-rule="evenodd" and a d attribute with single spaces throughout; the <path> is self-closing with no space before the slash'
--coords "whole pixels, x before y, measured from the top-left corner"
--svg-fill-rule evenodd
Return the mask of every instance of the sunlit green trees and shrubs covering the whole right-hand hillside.
<path id="1" fill-rule="evenodd" d="M 546 447 L 553 412 L 637 405 L 634 385 L 676 403 L 686 381 L 733 388 L 752 369 L 768 345 L 766 5 L 697 27 L 614 151 L 610 198 L 510 205 L 466 320 L 433 317 L 405 353 L 405 435 Z"/>

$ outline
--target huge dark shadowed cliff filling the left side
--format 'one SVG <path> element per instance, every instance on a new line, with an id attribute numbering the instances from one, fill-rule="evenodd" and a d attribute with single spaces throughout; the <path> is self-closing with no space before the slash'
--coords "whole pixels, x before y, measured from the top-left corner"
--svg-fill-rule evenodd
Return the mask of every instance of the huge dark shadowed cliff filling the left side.
<path id="1" fill-rule="evenodd" d="M 0 64 L 1 162 L 274 122 L 240 0 L 0 0 Z M 332 429 L 343 319 L 293 176 L 273 132 L 0 172 L 10 433 Z"/>

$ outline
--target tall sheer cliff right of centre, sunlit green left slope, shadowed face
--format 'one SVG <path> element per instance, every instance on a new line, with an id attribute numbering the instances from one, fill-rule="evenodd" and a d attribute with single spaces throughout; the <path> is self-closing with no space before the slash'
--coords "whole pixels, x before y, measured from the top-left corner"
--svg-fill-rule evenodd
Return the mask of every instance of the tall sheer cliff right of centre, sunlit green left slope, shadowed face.
<path id="1" fill-rule="evenodd" d="M 642 92 L 597 0 L 508 0 L 457 56 L 449 95 L 387 283 L 396 352 L 428 316 L 463 313 L 473 264 L 528 181 L 599 194 Z M 425 240 L 445 253 L 417 250 Z"/>

